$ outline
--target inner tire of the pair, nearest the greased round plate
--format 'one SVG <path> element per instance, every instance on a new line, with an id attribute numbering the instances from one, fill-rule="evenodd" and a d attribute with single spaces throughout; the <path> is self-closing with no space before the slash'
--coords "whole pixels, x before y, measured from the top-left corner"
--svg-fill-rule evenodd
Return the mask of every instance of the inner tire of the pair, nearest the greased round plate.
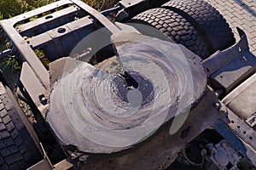
<path id="1" fill-rule="evenodd" d="M 131 22 L 154 26 L 174 42 L 183 44 L 202 59 L 209 56 L 207 41 L 195 30 L 188 20 L 167 8 L 152 8 L 133 17 Z"/>

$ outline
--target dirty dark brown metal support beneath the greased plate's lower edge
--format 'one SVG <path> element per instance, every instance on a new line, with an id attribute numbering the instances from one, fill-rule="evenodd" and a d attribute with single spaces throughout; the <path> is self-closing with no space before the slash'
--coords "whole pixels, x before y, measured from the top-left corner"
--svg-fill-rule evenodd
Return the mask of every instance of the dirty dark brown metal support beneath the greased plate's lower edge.
<path id="1" fill-rule="evenodd" d="M 124 151 L 119 155 L 104 157 L 98 161 L 81 165 L 81 169 L 105 170 L 137 170 L 137 169 L 165 169 L 177 157 L 189 141 L 195 139 L 201 132 L 209 128 L 219 118 L 218 102 L 213 91 L 207 88 L 199 104 L 189 113 L 188 119 L 177 133 L 171 135 L 171 124 L 166 124 L 159 133 L 131 151 Z"/>

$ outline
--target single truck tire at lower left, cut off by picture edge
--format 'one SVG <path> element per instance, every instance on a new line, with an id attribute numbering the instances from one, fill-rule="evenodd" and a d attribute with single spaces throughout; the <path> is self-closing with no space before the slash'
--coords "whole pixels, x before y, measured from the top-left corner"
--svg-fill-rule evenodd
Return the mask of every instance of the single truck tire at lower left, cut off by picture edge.
<path id="1" fill-rule="evenodd" d="M 1 170 L 26 169 L 43 159 L 19 113 L 23 114 L 14 95 L 0 82 Z"/>

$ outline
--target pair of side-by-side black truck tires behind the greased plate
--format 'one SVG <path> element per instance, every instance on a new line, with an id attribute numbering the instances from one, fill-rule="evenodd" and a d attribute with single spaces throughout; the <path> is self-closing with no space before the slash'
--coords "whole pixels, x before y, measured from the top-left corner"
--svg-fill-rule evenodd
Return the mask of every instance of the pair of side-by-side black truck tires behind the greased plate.
<path id="1" fill-rule="evenodd" d="M 224 17 L 203 0 L 172 0 L 137 14 L 131 22 L 153 26 L 201 59 L 236 42 Z"/>

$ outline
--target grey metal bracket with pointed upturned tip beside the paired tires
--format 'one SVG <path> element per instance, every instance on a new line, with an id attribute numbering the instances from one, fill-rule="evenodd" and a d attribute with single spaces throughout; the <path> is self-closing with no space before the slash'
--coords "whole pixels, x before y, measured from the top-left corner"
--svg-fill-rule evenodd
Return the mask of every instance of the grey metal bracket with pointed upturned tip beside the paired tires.
<path id="1" fill-rule="evenodd" d="M 204 60 L 212 88 L 224 88 L 224 94 L 236 88 L 255 71 L 256 57 L 249 51 L 246 35 L 234 46 L 216 52 Z"/>

